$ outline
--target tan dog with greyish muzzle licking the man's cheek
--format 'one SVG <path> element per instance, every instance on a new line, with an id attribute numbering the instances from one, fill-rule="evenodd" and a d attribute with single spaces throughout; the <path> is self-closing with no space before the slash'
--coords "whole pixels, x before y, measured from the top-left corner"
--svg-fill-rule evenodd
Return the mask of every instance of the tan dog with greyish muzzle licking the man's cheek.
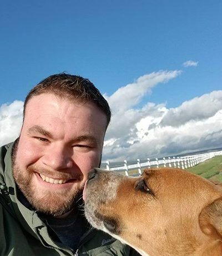
<path id="1" fill-rule="evenodd" d="M 95 168 L 83 190 L 89 223 L 149 256 L 222 255 L 222 187 L 188 171 L 138 178 Z"/>

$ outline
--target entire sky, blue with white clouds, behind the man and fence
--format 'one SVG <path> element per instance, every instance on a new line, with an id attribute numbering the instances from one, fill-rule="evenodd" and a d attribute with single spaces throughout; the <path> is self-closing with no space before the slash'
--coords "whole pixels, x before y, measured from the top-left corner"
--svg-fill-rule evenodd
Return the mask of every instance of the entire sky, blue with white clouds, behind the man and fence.
<path id="1" fill-rule="evenodd" d="M 89 78 L 112 109 L 103 161 L 221 147 L 222 2 L 3 1 L 0 145 L 53 73 Z"/>

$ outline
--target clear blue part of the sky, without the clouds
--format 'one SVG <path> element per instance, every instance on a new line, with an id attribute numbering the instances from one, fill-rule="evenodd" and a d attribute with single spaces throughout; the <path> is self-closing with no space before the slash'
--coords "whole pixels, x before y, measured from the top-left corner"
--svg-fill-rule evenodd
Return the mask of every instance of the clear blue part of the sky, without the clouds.
<path id="1" fill-rule="evenodd" d="M 131 106 L 151 102 L 176 112 L 221 90 L 221 11 L 220 0 L 3 1 L 0 106 L 23 101 L 32 86 L 63 71 L 88 77 L 110 99 L 139 77 L 178 71 Z M 183 65 L 189 60 L 195 66 Z"/>

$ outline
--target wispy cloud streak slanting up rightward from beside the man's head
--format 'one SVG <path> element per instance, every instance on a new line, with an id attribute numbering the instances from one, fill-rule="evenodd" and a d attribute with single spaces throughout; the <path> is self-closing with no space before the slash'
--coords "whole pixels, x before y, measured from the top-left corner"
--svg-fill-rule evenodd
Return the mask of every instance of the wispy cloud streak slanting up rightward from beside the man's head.
<path id="1" fill-rule="evenodd" d="M 181 71 L 159 71 L 153 72 L 148 75 L 139 77 L 134 83 L 130 83 L 124 87 L 119 88 L 110 97 L 105 96 L 109 102 L 110 109 L 112 110 L 112 120 L 109 129 L 107 130 L 106 139 L 124 136 L 131 134 L 134 136 L 135 124 L 137 124 L 143 117 L 150 115 L 160 115 L 156 111 L 159 106 L 153 103 L 148 103 L 141 109 L 133 109 L 143 99 L 147 93 L 158 83 L 168 82 L 179 76 Z M 162 105 L 161 105 L 162 106 Z"/>

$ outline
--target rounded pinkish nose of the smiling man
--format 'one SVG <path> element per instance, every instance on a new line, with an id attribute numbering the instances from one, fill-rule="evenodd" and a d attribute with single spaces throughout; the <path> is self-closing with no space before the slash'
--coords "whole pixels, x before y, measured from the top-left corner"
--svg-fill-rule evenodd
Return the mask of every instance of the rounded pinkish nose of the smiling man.
<path id="1" fill-rule="evenodd" d="M 72 168 L 73 159 L 67 149 L 63 147 L 53 147 L 43 156 L 43 164 L 53 170 Z"/>

